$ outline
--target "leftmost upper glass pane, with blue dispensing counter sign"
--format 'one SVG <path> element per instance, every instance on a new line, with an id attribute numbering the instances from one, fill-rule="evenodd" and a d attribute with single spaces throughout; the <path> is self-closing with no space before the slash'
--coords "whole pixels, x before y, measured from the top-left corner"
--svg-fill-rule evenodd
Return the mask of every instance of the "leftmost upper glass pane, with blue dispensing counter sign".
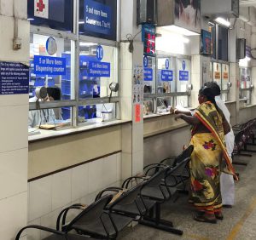
<path id="1" fill-rule="evenodd" d="M 51 100 L 71 100 L 71 41 L 44 35 L 30 36 L 30 101 L 38 87 L 48 90 Z"/>

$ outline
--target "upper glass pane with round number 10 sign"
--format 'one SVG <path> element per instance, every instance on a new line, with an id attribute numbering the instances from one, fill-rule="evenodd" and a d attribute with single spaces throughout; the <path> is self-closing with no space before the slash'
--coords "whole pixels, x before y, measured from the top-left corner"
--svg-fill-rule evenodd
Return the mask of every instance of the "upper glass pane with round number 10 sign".
<path id="1" fill-rule="evenodd" d="M 79 98 L 110 96 L 110 83 L 118 82 L 117 49 L 84 42 L 79 47 Z"/>

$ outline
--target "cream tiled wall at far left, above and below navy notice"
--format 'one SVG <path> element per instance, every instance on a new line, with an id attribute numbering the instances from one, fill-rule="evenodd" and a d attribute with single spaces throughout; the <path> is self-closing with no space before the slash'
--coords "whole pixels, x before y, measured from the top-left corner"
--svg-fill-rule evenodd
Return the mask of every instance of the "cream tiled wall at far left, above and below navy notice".
<path id="1" fill-rule="evenodd" d="M 28 63 L 29 22 L 26 1 L 0 0 L 0 60 Z M 12 49 L 14 12 L 20 18 L 20 50 Z M 0 95 L 0 239 L 14 239 L 26 226 L 28 94 Z M 20 239 L 25 239 L 22 237 Z"/>

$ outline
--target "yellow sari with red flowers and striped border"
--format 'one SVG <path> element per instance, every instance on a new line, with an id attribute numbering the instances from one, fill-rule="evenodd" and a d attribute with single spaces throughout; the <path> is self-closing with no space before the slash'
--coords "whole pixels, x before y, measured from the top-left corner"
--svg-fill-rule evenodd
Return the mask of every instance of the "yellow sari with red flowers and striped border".
<path id="1" fill-rule="evenodd" d="M 222 117 L 216 107 L 209 101 L 202 103 L 194 116 L 209 132 L 196 133 L 196 126 L 192 129 L 191 200 L 196 209 L 214 214 L 222 208 L 220 171 L 236 174 L 224 143 Z"/>

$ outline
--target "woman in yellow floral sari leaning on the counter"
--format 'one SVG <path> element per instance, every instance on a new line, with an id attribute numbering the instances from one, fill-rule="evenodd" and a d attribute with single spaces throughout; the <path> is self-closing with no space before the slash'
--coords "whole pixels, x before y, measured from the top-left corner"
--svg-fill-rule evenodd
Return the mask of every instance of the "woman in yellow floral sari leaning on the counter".
<path id="1" fill-rule="evenodd" d="M 198 95 L 200 106 L 195 114 L 178 114 L 193 126 L 191 145 L 191 200 L 198 210 L 195 220 L 216 223 L 223 220 L 220 194 L 220 171 L 234 174 L 230 157 L 224 144 L 224 135 L 230 132 L 230 124 L 218 109 L 210 88 L 201 88 Z M 190 115 L 190 116 L 189 116 Z M 224 158 L 224 161 L 223 161 Z"/>

